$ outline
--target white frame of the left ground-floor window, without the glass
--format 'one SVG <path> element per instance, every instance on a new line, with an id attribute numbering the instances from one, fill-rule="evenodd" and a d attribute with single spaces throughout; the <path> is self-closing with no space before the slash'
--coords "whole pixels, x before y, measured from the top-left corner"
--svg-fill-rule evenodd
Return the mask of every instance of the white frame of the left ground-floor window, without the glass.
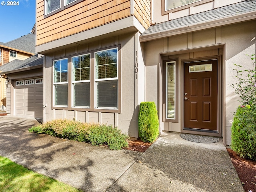
<path id="1" fill-rule="evenodd" d="M 52 60 L 52 106 L 53 107 L 58 107 L 58 108 L 66 108 L 66 107 L 68 107 L 68 105 L 56 105 L 55 104 L 55 86 L 54 85 L 68 84 L 69 74 L 67 76 L 67 81 L 66 82 L 57 82 L 57 83 L 55 83 L 54 82 L 54 61 L 60 61 L 60 60 L 65 60 L 65 59 L 68 60 L 67 57 Z M 69 60 L 68 60 L 68 63 L 69 63 Z M 67 70 L 68 70 L 68 68 L 69 68 L 69 64 L 68 64 Z M 68 70 L 68 72 L 69 72 L 69 70 Z M 69 98 L 69 95 L 68 95 L 68 98 Z M 67 98 L 67 103 L 68 103 L 68 98 Z"/>

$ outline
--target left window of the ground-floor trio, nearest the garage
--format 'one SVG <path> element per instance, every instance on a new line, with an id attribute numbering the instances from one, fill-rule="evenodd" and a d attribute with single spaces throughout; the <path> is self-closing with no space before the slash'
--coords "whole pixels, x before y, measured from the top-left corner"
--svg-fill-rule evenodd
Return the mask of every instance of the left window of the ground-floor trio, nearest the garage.
<path id="1" fill-rule="evenodd" d="M 54 106 L 68 106 L 68 59 L 53 62 Z"/>

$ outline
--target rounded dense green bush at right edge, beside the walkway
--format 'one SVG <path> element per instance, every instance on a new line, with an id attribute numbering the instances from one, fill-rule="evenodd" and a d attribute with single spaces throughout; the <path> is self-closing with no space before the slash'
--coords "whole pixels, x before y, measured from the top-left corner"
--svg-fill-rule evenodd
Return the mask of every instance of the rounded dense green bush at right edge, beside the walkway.
<path id="1" fill-rule="evenodd" d="M 256 160 L 256 105 L 239 106 L 231 127 L 231 148 L 243 158 Z"/>

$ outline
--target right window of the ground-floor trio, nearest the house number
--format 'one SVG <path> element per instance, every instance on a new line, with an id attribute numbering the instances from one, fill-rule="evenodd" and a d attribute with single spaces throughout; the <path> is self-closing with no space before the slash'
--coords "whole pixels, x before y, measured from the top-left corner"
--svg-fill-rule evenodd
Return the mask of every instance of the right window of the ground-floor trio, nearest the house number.
<path id="1" fill-rule="evenodd" d="M 118 107 L 118 49 L 95 53 L 95 107 Z"/>

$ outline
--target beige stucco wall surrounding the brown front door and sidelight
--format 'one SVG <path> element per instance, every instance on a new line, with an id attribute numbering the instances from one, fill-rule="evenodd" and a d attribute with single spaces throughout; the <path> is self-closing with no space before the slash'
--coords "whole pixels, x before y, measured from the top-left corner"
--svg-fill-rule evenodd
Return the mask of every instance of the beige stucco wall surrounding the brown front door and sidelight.
<path id="1" fill-rule="evenodd" d="M 221 121 L 222 136 L 226 137 L 226 144 L 230 144 L 230 126 L 232 124 L 233 114 L 239 105 L 239 98 L 234 94 L 230 84 L 235 82 L 234 65 L 241 64 L 245 68 L 251 64 L 250 58 L 245 54 L 255 54 L 256 52 L 256 21 L 243 22 L 219 28 L 211 28 L 198 32 L 162 38 L 145 42 L 145 65 L 146 65 L 146 101 L 154 101 L 157 104 L 158 114 L 160 117 L 161 130 L 176 131 L 182 130 L 182 102 L 179 101 L 179 122 L 162 122 L 162 64 L 160 53 L 166 53 L 169 58 L 179 58 L 179 96 L 182 97 L 182 68 L 180 66 L 182 60 L 208 57 L 222 56 L 222 72 L 225 72 L 222 81 L 226 78 L 226 82 L 222 83 L 222 113 L 226 113 L 226 117 Z M 223 44 L 222 48 L 208 48 L 211 45 Z M 188 48 L 207 47 L 200 51 L 187 51 Z M 174 54 L 175 51 L 184 50 L 180 54 Z M 168 53 L 168 54 L 167 54 Z M 182 97 L 183 98 L 183 97 Z M 225 102 L 225 104 L 224 104 Z M 223 123 L 224 121 L 224 123 Z M 223 125 L 226 126 L 223 127 Z"/>

